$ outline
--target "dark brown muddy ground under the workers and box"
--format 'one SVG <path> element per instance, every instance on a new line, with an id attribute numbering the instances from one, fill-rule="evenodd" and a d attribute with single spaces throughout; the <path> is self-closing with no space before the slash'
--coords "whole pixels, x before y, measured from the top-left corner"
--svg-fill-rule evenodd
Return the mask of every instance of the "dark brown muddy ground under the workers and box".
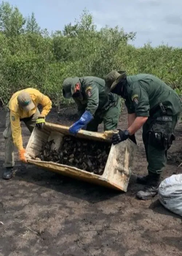
<path id="1" fill-rule="evenodd" d="M 47 118 L 65 125 L 75 119 L 74 109 L 64 110 L 60 121 L 54 110 Z M 126 110 L 118 126 L 126 127 Z M 142 185 L 135 183 L 134 175 L 128 192 L 120 193 L 16 161 L 15 177 L 3 180 L 4 127 L 5 112 L 1 111 L 0 221 L 4 225 L 0 224 L 0 256 L 182 255 L 181 218 L 163 208 L 157 197 L 137 200 L 135 194 Z M 22 128 L 26 145 L 29 132 L 24 124 Z M 179 124 L 163 178 L 175 173 L 181 161 L 181 131 Z M 136 138 L 133 174 L 144 174 L 147 162 L 141 131 Z"/>

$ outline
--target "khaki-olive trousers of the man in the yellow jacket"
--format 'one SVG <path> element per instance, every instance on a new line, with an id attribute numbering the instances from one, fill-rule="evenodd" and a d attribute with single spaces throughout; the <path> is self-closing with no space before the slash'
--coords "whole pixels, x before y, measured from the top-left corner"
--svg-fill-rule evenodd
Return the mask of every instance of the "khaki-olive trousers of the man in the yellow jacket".
<path id="1" fill-rule="evenodd" d="M 35 127 L 35 123 L 37 118 L 39 117 L 40 112 L 37 109 L 35 114 L 31 116 L 31 118 L 23 118 L 21 121 L 25 123 L 27 128 L 30 132 L 33 131 L 33 128 Z M 4 167 L 13 167 L 15 165 L 15 159 L 14 159 L 14 150 L 15 146 L 13 143 L 12 138 L 12 131 L 11 131 L 11 123 L 10 123 L 10 112 L 7 112 L 6 115 L 6 128 L 3 132 L 3 136 L 5 139 L 5 159 L 4 159 Z"/>

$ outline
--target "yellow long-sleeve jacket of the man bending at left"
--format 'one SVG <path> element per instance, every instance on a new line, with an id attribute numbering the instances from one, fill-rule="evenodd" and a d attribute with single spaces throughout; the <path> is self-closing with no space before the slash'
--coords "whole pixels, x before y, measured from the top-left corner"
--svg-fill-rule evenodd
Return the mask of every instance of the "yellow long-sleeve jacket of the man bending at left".
<path id="1" fill-rule="evenodd" d="M 25 112 L 23 109 L 19 107 L 17 96 L 22 91 L 29 93 L 29 95 L 32 98 L 35 108 L 32 109 L 31 111 Z M 15 94 L 13 94 L 13 96 L 9 101 L 10 122 L 11 122 L 13 143 L 18 148 L 18 150 L 23 149 L 20 119 L 25 117 L 31 117 L 33 114 L 35 114 L 38 104 L 41 104 L 43 106 L 40 116 L 46 117 L 52 108 L 52 102 L 50 98 L 48 98 L 46 95 L 40 93 L 40 91 L 33 88 L 27 88 L 24 90 L 17 91 Z"/>

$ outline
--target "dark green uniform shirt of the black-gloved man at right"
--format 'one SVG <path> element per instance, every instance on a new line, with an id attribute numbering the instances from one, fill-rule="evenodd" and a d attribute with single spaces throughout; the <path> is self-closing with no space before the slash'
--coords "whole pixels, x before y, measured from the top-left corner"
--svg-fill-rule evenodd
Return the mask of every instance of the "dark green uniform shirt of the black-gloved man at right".
<path id="1" fill-rule="evenodd" d="M 127 76 L 127 97 L 125 104 L 128 114 L 150 116 L 149 111 L 162 102 L 167 114 L 174 116 L 182 110 L 182 102 L 177 93 L 159 78 L 139 74 Z"/>

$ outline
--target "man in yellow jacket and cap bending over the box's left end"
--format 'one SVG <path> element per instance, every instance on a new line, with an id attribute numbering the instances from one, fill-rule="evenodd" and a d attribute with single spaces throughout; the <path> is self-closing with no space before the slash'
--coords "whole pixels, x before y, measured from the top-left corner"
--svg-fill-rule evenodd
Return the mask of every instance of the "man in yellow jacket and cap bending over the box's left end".
<path id="1" fill-rule="evenodd" d="M 37 108 L 38 104 L 43 107 L 41 113 Z M 20 160 L 24 163 L 27 162 L 21 137 L 21 121 L 25 123 L 30 132 L 33 131 L 35 125 L 41 129 L 51 107 L 52 102 L 50 98 L 33 88 L 17 91 L 11 97 L 9 101 L 9 112 L 6 117 L 6 128 L 3 132 L 5 138 L 4 179 L 8 180 L 13 176 L 13 166 L 15 165 L 14 146 L 19 151 Z"/>

